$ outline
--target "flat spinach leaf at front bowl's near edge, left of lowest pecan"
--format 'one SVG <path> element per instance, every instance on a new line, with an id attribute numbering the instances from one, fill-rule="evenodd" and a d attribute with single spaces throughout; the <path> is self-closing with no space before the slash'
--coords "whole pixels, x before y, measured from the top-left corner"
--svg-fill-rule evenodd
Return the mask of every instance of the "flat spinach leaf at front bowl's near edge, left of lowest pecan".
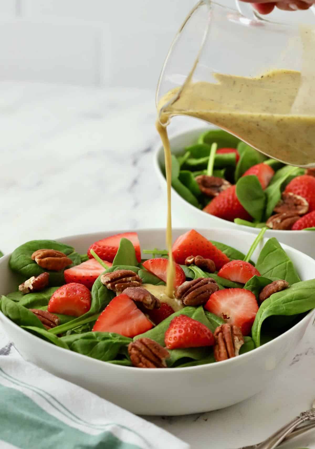
<path id="1" fill-rule="evenodd" d="M 114 360 L 123 346 L 132 339 L 112 332 L 87 332 L 61 337 L 71 351 L 102 361 Z"/>

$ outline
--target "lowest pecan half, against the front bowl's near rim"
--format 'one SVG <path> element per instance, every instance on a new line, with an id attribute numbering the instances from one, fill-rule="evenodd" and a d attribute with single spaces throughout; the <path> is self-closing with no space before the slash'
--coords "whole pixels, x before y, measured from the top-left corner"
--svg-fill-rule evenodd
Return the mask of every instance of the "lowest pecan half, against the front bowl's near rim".
<path id="1" fill-rule="evenodd" d="M 156 341 L 140 338 L 129 343 L 128 353 L 133 366 L 137 368 L 166 368 L 170 353 Z"/>

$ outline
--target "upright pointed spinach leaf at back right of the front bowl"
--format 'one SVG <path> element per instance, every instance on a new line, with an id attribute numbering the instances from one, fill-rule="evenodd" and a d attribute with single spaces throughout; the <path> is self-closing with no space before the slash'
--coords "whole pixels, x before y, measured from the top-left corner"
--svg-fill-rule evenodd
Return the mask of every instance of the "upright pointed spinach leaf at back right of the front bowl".
<path id="1" fill-rule="evenodd" d="M 275 237 L 270 238 L 262 248 L 256 269 L 261 276 L 284 279 L 290 285 L 301 281 L 292 261 Z"/>

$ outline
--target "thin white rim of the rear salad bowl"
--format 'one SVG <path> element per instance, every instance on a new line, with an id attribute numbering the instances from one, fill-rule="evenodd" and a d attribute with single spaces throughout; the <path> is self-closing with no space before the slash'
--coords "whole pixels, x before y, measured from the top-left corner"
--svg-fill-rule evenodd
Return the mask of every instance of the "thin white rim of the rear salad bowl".
<path id="1" fill-rule="evenodd" d="M 189 135 L 190 133 L 192 133 L 192 132 L 200 132 L 200 134 L 202 134 L 203 132 L 206 132 L 206 131 L 211 131 L 211 130 L 213 130 L 213 129 L 221 129 L 221 128 L 218 128 L 218 127 L 214 127 L 214 125 L 211 125 L 210 127 L 208 127 L 208 128 L 206 128 L 206 127 L 203 127 L 203 128 L 191 128 L 190 130 L 188 130 L 188 131 L 180 131 L 180 132 L 176 132 L 176 133 L 174 133 L 174 134 L 171 134 L 171 136 L 170 136 L 170 143 L 172 143 L 172 140 L 174 140 L 174 139 L 176 139 L 176 138 L 178 138 L 179 136 L 184 136 L 184 135 Z M 221 130 L 222 131 L 222 130 Z M 162 145 L 162 143 L 161 142 L 159 142 L 159 143 L 157 143 L 156 145 L 154 145 L 154 150 L 153 150 L 153 152 L 154 152 L 154 167 L 155 167 L 155 171 L 157 172 L 157 176 L 160 178 L 160 179 L 163 179 L 163 182 L 165 182 L 166 183 L 166 179 L 165 179 L 165 177 L 164 177 L 164 175 L 163 175 L 163 173 L 162 173 L 162 170 L 161 170 L 161 167 L 160 167 L 160 164 L 159 164 L 159 161 L 158 161 L 158 157 L 159 157 L 159 154 L 160 154 L 160 151 L 161 150 L 163 150 L 163 145 Z M 197 211 L 197 213 L 199 214 L 202 214 L 202 216 L 205 216 L 205 214 L 206 214 L 206 212 L 204 212 L 202 209 L 198 209 L 198 207 L 195 207 L 195 206 L 193 206 L 192 204 L 190 204 L 190 202 L 188 202 L 188 201 L 186 201 L 184 198 L 182 198 L 177 192 L 176 192 L 176 190 L 172 187 L 172 196 L 174 196 L 174 195 L 176 195 L 178 198 L 180 198 L 180 200 L 182 201 L 182 202 L 184 202 L 186 205 L 187 205 L 187 207 L 189 207 L 190 209 L 192 209 L 193 211 Z M 207 215 L 210 215 L 210 214 L 207 214 Z M 253 231 L 255 230 L 255 232 L 257 232 L 257 233 L 259 233 L 259 231 L 260 231 L 260 228 L 254 228 L 254 227 L 251 227 L 251 226 L 245 226 L 245 225 L 237 225 L 236 223 L 234 223 L 233 221 L 228 221 L 228 220 L 224 220 L 223 218 L 220 218 L 220 217 L 217 217 L 217 216 L 214 216 L 214 215 L 212 215 L 211 216 L 212 217 L 212 219 L 213 220 L 216 220 L 216 221 L 218 221 L 218 225 L 220 224 L 220 222 L 224 222 L 224 223 L 229 223 L 229 224 L 231 224 L 231 227 L 237 227 L 237 228 L 241 228 L 241 230 L 243 230 L 243 231 L 247 231 L 248 232 L 248 228 L 250 228 L 250 229 L 252 229 Z M 268 233 L 268 232 L 272 232 L 272 233 L 276 233 L 276 234 L 279 234 L 279 236 L 281 236 L 281 235 L 292 235 L 292 233 L 294 233 L 294 234 L 297 234 L 298 233 L 298 235 L 307 235 L 308 233 L 310 233 L 310 232 L 312 232 L 312 231 L 304 231 L 303 229 L 302 230 L 298 230 L 298 231 L 293 231 L 293 230 L 280 230 L 280 229 L 267 229 L 267 231 L 266 231 L 266 234 Z M 265 234 L 265 235 L 266 235 Z M 281 238 L 279 239 L 280 241 L 281 241 Z"/>

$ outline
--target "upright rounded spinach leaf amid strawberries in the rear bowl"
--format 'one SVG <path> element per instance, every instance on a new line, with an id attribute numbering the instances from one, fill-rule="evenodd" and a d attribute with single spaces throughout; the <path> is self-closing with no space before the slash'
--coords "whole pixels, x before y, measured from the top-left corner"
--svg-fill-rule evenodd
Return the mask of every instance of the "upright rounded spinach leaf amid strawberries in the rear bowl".
<path id="1" fill-rule="evenodd" d="M 257 176 L 241 177 L 236 183 L 236 196 L 254 220 L 261 221 L 265 211 L 266 196 Z"/>

